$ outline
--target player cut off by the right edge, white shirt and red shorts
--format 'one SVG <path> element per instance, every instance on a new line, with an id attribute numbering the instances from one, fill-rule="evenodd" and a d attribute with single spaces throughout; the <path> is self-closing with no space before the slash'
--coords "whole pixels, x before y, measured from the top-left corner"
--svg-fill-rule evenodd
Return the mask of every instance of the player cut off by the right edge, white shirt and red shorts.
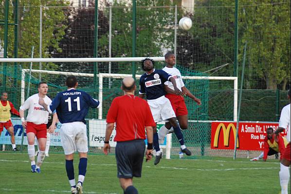
<path id="1" fill-rule="evenodd" d="M 288 99 L 290 100 L 290 89 L 288 91 Z M 284 153 L 283 153 L 283 159 L 280 163 L 280 185 L 281 185 L 281 194 L 288 194 L 288 185 L 289 185 L 289 166 L 290 166 L 290 123 L 291 123 L 291 117 L 290 117 L 290 103 L 283 107 L 280 115 L 279 120 L 279 127 L 274 132 L 275 134 L 279 134 L 283 130 L 287 130 L 287 141 L 289 142 Z"/>

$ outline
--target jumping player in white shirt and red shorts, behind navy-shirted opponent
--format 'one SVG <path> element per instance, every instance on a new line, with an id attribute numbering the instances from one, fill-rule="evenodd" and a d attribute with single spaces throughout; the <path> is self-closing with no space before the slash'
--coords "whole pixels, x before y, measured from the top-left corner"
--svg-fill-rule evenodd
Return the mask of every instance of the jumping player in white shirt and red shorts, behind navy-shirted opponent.
<path id="1" fill-rule="evenodd" d="M 183 96 L 187 96 L 187 97 L 192 98 L 198 105 L 201 105 L 201 101 L 200 101 L 200 99 L 195 97 L 186 88 L 186 86 L 182 80 L 182 75 L 181 75 L 179 69 L 174 67 L 174 65 L 176 65 L 175 55 L 171 52 L 167 52 L 165 54 L 164 58 L 165 58 L 166 66 L 164 67 L 163 70 L 175 78 L 177 88 L 180 91 L 182 91 L 181 95 L 176 95 L 175 91 L 174 91 L 173 84 L 170 81 L 166 81 L 164 83 L 164 85 L 165 85 L 164 89 L 167 92 L 165 97 L 167 97 L 171 102 L 173 110 L 174 110 L 176 117 L 179 121 L 180 128 L 182 130 L 185 130 L 188 128 L 188 111 L 187 111 L 187 107 L 186 107 L 185 100 L 184 100 Z M 167 123 L 165 123 L 164 126 L 162 126 L 160 128 L 160 130 L 159 130 L 159 142 L 160 143 L 164 142 L 164 137 L 167 133 L 173 132 L 171 127 L 172 126 L 170 125 L 170 123 L 167 122 Z"/>

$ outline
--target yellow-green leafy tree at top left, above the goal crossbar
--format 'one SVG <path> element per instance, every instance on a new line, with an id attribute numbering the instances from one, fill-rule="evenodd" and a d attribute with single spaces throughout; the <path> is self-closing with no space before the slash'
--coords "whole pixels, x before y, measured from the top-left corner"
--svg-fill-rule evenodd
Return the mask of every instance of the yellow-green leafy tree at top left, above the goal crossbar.
<path id="1" fill-rule="evenodd" d="M 0 0 L 4 5 L 5 0 Z M 10 4 L 11 5 L 11 4 Z M 19 0 L 18 1 L 18 58 L 31 57 L 31 48 L 35 47 L 34 57 L 39 57 L 39 6 L 47 6 L 42 9 L 42 57 L 48 57 L 47 48 L 58 48 L 58 41 L 64 34 L 62 21 L 65 15 L 62 9 L 49 6 L 66 6 L 63 0 Z M 3 9 L 4 12 L 4 9 Z M 4 14 L 3 14 L 4 16 Z M 9 9 L 9 23 L 14 23 L 13 8 Z M 0 25 L 0 37 L 3 37 L 4 26 Z M 9 26 L 8 32 L 8 57 L 14 56 L 14 27 Z M 0 38 L 3 47 L 3 38 Z"/>

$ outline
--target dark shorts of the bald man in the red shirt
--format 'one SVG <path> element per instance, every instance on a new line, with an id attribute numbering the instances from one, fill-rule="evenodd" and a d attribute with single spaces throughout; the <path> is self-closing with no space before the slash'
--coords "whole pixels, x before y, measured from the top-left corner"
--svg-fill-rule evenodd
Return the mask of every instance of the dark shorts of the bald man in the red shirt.
<path id="1" fill-rule="evenodd" d="M 117 177 L 118 178 L 141 177 L 144 156 L 145 156 L 144 140 L 117 142 L 115 147 Z"/>

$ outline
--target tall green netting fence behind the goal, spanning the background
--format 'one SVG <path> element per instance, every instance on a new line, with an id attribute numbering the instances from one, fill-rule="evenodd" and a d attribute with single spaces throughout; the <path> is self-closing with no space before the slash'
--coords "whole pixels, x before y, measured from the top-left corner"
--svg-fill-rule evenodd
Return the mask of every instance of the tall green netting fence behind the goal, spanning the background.
<path id="1" fill-rule="evenodd" d="M 40 3 L 42 7 L 40 7 Z M 58 2 L 59 3 L 59 2 Z M 137 0 L 136 56 L 163 56 L 167 50 L 176 50 L 177 67 L 183 76 L 233 76 L 234 75 L 234 16 L 233 0 L 195 1 L 195 7 L 182 7 L 171 0 Z M 3 0 L 0 0 L 0 57 L 3 52 L 4 20 Z M 9 7 L 9 23 L 13 23 L 13 7 Z M 42 10 L 42 39 L 40 40 L 40 9 Z M 176 14 L 177 10 L 177 14 Z M 110 16 L 111 13 L 111 16 Z M 18 8 L 18 58 L 30 58 L 34 46 L 34 57 L 72 58 L 94 56 L 94 3 L 89 7 L 70 7 L 67 4 L 49 2 L 19 2 Z M 182 16 L 192 18 L 189 31 L 177 29 Z M 262 0 L 254 3 L 239 0 L 239 64 L 242 61 L 243 45 L 247 41 L 245 82 L 242 93 L 240 120 L 278 121 L 278 113 L 288 104 L 286 98 L 290 84 L 290 1 Z M 112 18 L 110 20 L 110 18 Z M 130 57 L 132 55 L 132 7 L 118 1 L 98 9 L 98 57 Z M 109 25 L 110 24 L 110 25 Z M 109 36 L 109 26 L 111 34 Z M 8 29 L 8 57 L 15 56 L 14 28 Z M 109 45 L 109 37 L 111 45 Z M 175 44 L 176 37 L 176 44 Z M 42 47 L 39 48 L 39 43 Z M 111 48 L 111 49 L 109 49 Z M 22 69 L 30 63 L 1 63 L 0 92 L 8 92 L 9 100 L 16 108 L 21 105 Z M 157 63 L 162 68 L 164 63 Z M 33 69 L 75 73 L 132 73 L 131 62 L 102 63 L 34 63 Z M 135 72 L 143 70 L 135 63 Z M 240 71 L 240 67 L 238 67 Z M 238 73 L 240 75 L 240 73 Z M 49 83 L 49 95 L 64 90 L 64 75 L 32 73 L 29 95 L 37 92 L 36 84 L 41 79 Z M 25 97 L 29 75 L 25 73 Z M 94 77 L 78 76 L 80 89 L 98 97 L 99 82 Z M 239 78 L 240 79 L 240 78 Z M 120 79 L 103 80 L 103 118 L 111 100 L 121 95 Z M 215 155 L 210 149 L 210 123 L 197 121 L 233 120 L 233 81 L 187 80 L 186 86 L 202 100 L 197 106 L 186 98 L 189 110 L 189 129 L 184 131 L 186 142 L 195 155 Z M 3 84 L 3 83 L 6 84 Z M 239 92 L 239 91 L 238 91 Z M 279 94 L 279 95 L 278 95 Z M 98 110 L 90 110 L 88 119 L 97 118 Z M 173 138 L 173 146 L 177 146 Z M 9 146 L 6 146 L 8 149 Z M 61 149 L 60 149 L 61 150 Z M 101 150 L 92 147 L 91 152 Z M 172 149 L 178 154 L 179 146 Z M 244 154 L 244 152 L 241 152 Z M 232 156 L 231 151 L 221 151 L 221 156 Z M 239 153 L 238 153 L 239 156 Z"/>

